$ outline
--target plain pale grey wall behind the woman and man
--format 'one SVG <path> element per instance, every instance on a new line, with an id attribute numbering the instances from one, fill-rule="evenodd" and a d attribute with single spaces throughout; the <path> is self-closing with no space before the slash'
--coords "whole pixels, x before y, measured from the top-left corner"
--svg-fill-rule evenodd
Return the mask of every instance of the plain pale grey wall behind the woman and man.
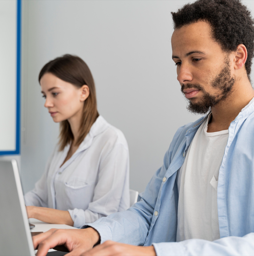
<path id="1" fill-rule="evenodd" d="M 25 192 L 42 175 L 58 137 L 58 124 L 43 107 L 38 74 L 46 62 L 66 53 L 90 67 L 99 113 L 124 132 L 129 144 L 130 188 L 145 189 L 177 128 L 198 118 L 186 111 L 171 59 L 170 12 L 186 2 L 23 1 Z"/>

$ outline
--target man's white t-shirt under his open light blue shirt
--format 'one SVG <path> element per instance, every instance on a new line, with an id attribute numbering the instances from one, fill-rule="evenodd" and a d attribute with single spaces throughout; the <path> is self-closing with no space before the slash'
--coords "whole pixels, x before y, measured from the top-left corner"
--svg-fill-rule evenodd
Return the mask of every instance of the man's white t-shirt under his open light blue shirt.
<path id="1" fill-rule="evenodd" d="M 220 238 L 217 186 L 229 131 L 207 133 L 208 116 L 197 130 L 177 173 L 177 242 Z"/>

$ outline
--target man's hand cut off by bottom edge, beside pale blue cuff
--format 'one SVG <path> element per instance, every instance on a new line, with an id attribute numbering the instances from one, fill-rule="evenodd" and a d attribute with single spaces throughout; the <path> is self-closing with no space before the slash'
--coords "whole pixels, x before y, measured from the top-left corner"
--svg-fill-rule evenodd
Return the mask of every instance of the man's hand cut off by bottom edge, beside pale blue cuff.
<path id="1" fill-rule="evenodd" d="M 68 255 L 68 254 L 66 254 Z M 83 256 L 141 256 L 141 255 L 154 255 L 156 256 L 153 246 L 134 246 L 129 244 L 120 244 L 113 241 L 106 241 L 103 244 L 97 245 L 89 251 L 81 254 Z"/>

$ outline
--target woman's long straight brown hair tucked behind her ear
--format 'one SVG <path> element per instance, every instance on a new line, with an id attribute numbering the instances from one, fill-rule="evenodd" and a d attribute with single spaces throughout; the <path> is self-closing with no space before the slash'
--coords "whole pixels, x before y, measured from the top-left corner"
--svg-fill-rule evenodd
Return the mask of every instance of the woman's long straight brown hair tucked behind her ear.
<path id="1" fill-rule="evenodd" d="M 87 64 L 78 56 L 65 54 L 48 62 L 40 71 L 39 82 L 46 73 L 54 74 L 63 81 L 82 87 L 84 84 L 89 87 L 90 94 L 84 102 L 83 116 L 80 123 L 80 134 L 75 145 L 80 145 L 85 136 L 89 133 L 91 126 L 99 116 L 96 103 L 96 91 L 94 79 Z M 73 141 L 72 130 L 68 120 L 60 123 L 59 151 Z"/>

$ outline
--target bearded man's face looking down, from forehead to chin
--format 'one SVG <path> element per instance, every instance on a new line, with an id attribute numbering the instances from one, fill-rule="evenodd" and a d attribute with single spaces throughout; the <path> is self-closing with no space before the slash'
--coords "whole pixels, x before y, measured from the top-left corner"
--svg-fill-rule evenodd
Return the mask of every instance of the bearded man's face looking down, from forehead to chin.
<path id="1" fill-rule="evenodd" d="M 235 82 L 229 54 L 211 34 L 210 24 L 199 21 L 175 29 L 171 38 L 177 80 L 193 113 L 204 114 L 222 102 Z"/>

